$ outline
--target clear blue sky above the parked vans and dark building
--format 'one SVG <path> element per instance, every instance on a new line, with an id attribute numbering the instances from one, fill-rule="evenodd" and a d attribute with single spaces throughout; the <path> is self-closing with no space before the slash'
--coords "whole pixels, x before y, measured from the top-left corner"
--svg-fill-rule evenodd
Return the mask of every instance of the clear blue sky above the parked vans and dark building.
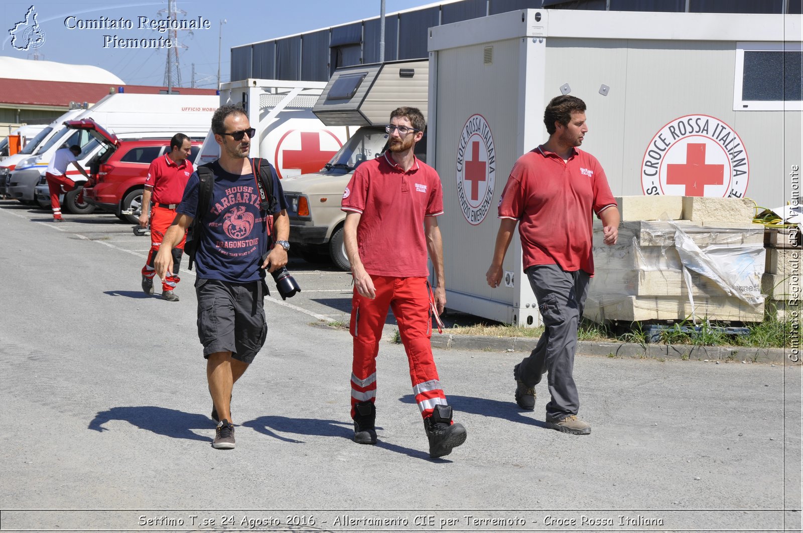
<path id="1" fill-rule="evenodd" d="M 434 3 L 426 0 L 385 0 L 385 11 L 406 10 Z M 222 31 L 221 81 L 229 81 L 229 50 L 241 44 L 255 43 L 283 35 L 336 26 L 361 18 L 378 16 L 380 0 L 252 0 L 251 2 L 221 2 L 220 0 L 187 0 L 176 2 L 177 9 L 186 14 L 179 18 L 205 18 L 210 29 L 178 31 L 182 84 L 189 87 L 192 64 L 195 64 L 197 87 L 214 88 L 218 73 L 218 31 Z M 26 12 L 35 6 L 37 22 L 44 32 L 42 45 L 37 49 L 20 51 L 11 46 L 9 31 L 25 19 Z M 158 39 L 167 37 L 151 29 L 138 29 L 139 17 L 166 18 L 159 10 L 167 9 L 167 0 L 125 2 L 124 0 L 88 0 L 84 2 L 18 2 L 0 3 L 0 55 L 21 59 L 39 59 L 59 63 L 95 65 L 118 75 L 125 83 L 161 85 L 165 76 L 167 49 L 104 47 L 104 35 L 120 39 Z M 68 22 L 65 19 L 71 18 Z M 102 17 L 132 22 L 132 29 L 68 29 L 78 26 L 75 21 L 98 20 Z M 226 24 L 219 22 L 226 19 Z M 22 43 L 22 39 L 16 41 Z M 0 71 L 0 78 L 6 77 Z M 2 90 L 2 87 L 0 87 Z"/>

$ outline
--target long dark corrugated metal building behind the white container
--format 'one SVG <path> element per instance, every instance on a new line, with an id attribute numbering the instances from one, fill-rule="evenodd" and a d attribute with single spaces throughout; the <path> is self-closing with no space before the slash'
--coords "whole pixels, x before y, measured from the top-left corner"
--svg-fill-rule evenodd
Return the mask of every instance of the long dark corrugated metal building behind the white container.
<path id="1" fill-rule="evenodd" d="M 377 10 L 378 10 L 377 2 Z M 385 15 L 385 61 L 426 58 L 427 30 L 527 8 L 801 14 L 803 0 L 451 0 Z M 231 48 L 230 79 L 326 81 L 337 67 L 377 63 L 378 16 Z"/>

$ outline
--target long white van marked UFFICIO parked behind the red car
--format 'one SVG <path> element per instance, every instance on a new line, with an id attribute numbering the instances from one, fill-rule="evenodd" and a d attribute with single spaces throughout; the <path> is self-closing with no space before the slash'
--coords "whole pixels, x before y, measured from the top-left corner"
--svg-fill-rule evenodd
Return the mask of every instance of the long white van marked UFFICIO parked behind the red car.
<path id="1" fill-rule="evenodd" d="M 116 93 L 104 97 L 92 108 L 75 116 L 74 120 L 95 120 L 121 139 L 164 138 L 178 132 L 197 138 L 206 135 L 217 108 L 217 96 Z M 88 132 L 64 126 L 35 154 L 17 163 L 6 177 L 6 193 L 22 203 L 35 202 L 35 186 L 44 176 L 53 154 L 72 144 L 80 147 L 78 162 L 84 167 L 102 148 L 102 144 Z M 75 169 L 67 169 L 67 176 L 85 181 Z M 67 210 L 88 212 L 88 206 L 75 204 L 71 198 L 79 198 L 77 190 L 75 194 L 67 195 Z"/>

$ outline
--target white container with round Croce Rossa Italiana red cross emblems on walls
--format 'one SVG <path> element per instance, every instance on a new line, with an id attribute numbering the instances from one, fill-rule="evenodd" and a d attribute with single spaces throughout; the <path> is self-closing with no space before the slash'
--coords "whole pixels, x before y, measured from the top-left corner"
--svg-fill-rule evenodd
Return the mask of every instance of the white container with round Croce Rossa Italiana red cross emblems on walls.
<path id="1" fill-rule="evenodd" d="M 756 80 L 777 74 L 764 59 L 799 62 L 800 35 L 793 15 L 573 10 L 430 28 L 428 161 L 443 181 L 447 307 L 540 323 L 518 234 L 503 287 L 487 287 L 485 272 L 499 194 L 516 159 L 547 140 L 544 107 L 561 92 L 585 100 L 582 149 L 614 196 L 784 205 L 789 169 L 801 165 L 801 97 L 761 96 Z"/>

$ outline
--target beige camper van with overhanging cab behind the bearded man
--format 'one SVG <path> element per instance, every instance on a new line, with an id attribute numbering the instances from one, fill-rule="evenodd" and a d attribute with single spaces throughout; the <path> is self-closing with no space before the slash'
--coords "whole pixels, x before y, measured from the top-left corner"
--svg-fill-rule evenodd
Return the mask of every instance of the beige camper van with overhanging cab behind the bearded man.
<path id="1" fill-rule="evenodd" d="M 351 268 L 343 245 L 343 191 L 358 165 L 385 152 L 385 125 L 393 109 L 419 108 L 426 119 L 428 79 L 426 59 L 344 67 L 329 79 L 312 112 L 329 126 L 360 128 L 323 169 L 283 184 L 291 246 L 302 258 L 331 258 L 341 270 Z M 416 144 L 415 154 L 426 161 L 426 137 Z"/>

